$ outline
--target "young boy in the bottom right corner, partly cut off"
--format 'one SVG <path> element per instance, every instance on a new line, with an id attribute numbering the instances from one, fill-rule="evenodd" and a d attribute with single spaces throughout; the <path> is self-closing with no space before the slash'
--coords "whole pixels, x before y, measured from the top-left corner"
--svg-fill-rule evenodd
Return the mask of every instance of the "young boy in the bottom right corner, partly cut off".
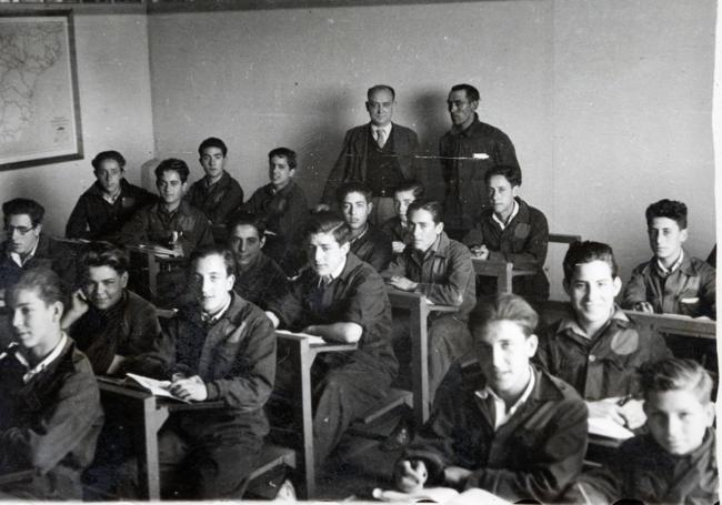
<path id="1" fill-rule="evenodd" d="M 648 433 L 625 441 L 614 464 L 584 473 L 569 503 L 719 502 L 712 378 L 692 360 L 668 358 L 641 370 Z M 584 501 L 586 499 L 586 502 Z"/>

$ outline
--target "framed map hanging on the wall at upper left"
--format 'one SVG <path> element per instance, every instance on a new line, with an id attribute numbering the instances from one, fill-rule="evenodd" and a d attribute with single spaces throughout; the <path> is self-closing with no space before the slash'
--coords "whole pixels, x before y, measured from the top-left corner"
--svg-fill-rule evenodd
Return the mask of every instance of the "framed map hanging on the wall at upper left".
<path id="1" fill-rule="evenodd" d="M 72 12 L 3 12 L 0 170 L 81 158 Z"/>

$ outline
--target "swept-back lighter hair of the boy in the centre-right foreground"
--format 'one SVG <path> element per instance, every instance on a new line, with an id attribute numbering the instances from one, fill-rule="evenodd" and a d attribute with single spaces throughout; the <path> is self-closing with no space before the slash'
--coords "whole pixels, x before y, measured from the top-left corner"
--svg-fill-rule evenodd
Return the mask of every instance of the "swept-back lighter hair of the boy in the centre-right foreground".
<path id="1" fill-rule="evenodd" d="M 469 331 L 475 340 L 489 325 L 497 321 L 517 323 L 525 336 L 533 335 L 539 325 L 539 314 L 519 295 L 498 294 L 482 299 L 469 315 Z"/>

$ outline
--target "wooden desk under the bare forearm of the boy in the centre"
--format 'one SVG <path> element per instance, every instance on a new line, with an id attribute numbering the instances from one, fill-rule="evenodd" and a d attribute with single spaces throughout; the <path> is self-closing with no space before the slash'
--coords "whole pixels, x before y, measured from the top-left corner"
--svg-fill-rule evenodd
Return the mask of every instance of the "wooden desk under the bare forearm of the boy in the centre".
<path id="1" fill-rule="evenodd" d="M 299 377 L 295 383 L 293 398 L 299 403 L 293 408 L 293 416 L 298 426 L 301 426 L 301 451 L 303 453 L 304 473 L 304 497 L 311 499 L 315 496 L 315 457 L 313 454 L 313 401 L 311 388 L 311 366 L 315 356 L 322 353 L 353 351 L 357 344 L 329 344 L 311 343 L 305 336 L 293 333 L 277 333 L 279 355 L 282 350 L 289 352 L 290 363 L 294 376 Z"/>

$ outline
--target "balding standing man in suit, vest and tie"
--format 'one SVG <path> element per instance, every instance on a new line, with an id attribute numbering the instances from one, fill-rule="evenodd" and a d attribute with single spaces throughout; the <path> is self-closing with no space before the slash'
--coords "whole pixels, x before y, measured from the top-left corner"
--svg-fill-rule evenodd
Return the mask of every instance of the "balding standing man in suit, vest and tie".
<path id="1" fill-rule="evenodd" d="M 333 165 L 321 202 L 330 205 L 343 182 L 365 182 L 373 193 L 371 222 L 381 225 L 395 215 L 393 189 L 413 178 L 417 133 L 391 122 L 395 91 L 387 84 L 369 89 L 367 111 L 371 122 L 345 133 L 341 154 Z"/>

